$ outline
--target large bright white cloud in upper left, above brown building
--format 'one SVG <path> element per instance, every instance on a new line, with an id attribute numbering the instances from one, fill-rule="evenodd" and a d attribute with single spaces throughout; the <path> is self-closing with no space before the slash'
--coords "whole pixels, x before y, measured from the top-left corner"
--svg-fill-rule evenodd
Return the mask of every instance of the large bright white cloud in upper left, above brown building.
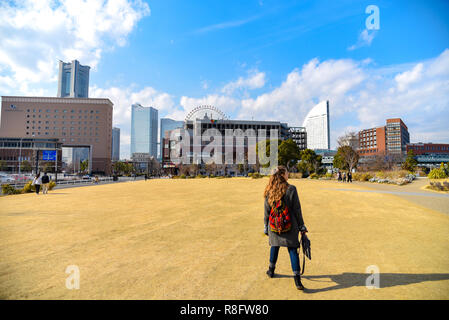
<path id="1" fill-rule="evenodd" d="M 30 95 L 55 83 L 58 59 L 78 59 L 95 69 L 103 48 L 124 46 L 149 14 L 141 0 L 0 2 L 0 70 L 21 84 L 6 83 L 5 91 Z"/>

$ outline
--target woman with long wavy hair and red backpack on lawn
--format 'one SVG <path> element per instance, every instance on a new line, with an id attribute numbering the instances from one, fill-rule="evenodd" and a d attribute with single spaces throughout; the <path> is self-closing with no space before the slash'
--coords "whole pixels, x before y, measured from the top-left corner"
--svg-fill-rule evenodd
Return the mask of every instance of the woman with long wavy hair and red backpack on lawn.
<path id="1" fill-rule="evenodd" d="M 304 290 L 299 266 L 299 232 L 307 232 L 301 213 L 296 187 L 288 184 L 288 171 L 284 166 L 277 167 L 265 188 L 265 234 L 268 235 L 270 265 L 267 275 L 274 276 L 279 247 L 287 247 L 295 279 L 296 288 Z"/>

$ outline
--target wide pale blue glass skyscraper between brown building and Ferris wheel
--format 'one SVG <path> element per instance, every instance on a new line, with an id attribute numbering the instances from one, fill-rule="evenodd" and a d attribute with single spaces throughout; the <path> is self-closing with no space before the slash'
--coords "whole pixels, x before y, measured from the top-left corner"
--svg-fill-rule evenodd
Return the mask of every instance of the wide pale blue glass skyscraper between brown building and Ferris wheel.
<path id="1" fill-rule="evenodd" d="M 131 156 L 149 153 L 157 157 L 158 111 L 133 104 L 131 107 Z"/>

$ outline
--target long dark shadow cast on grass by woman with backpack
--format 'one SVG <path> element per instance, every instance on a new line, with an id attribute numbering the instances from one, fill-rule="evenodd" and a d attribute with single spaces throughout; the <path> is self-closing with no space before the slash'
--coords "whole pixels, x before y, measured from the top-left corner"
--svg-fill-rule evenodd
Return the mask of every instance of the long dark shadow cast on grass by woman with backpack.
<path id="1" fill-rule="evenodd" d="M 394 286 L 403 286 L 414 283 L 421 283 L 425 281 L 441 281 L 449 280 L 449 273 L 427 273 L 427 274 L 412 274 L 412 273 L 379 273 L 379 288 L 389 288 Z M 290 277 L 287 275 L 276 275 L 278 278 Z M 342 274 L 329 274 L 320 276 L 302 276 L 301 278 L 310 281 L 318 282 L 334 282 L 333 286 L 321 289 L 306 289 L 307 293 L 318 293 L 331 290 L 339 290 L 350 287 L 365 287 L 372 285 L 371 281 L 367 279 L 372 277 L 369 273 L 350 273 L 344 272 Z M 323 280 L 320 280 L 323 279 Z M 327 280 L 329 279 L 329 280 Z"/>

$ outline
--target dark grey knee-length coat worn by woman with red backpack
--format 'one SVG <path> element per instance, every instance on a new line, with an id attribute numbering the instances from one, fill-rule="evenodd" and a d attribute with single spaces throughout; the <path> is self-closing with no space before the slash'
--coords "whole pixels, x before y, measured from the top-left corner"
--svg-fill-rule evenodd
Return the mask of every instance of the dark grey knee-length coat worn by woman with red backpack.
<path id="1" fill-rule="evenodd" d="M 284 233 L 278 234 L 271 232 L 268 217 L 270 216 L 271 207 L 268 199 L 265 199 L 264 224 L 268 226 L 268 243 L 270 246 L 280 247 L 299 247 L 299 232 L 304 231 L 304 220 L 302 218 L 301 204 L 299 203 L 298 192 L 296 187 L 289 185 L 284 196 L 288 211 L 291 215 L 292 228 Z"/>

